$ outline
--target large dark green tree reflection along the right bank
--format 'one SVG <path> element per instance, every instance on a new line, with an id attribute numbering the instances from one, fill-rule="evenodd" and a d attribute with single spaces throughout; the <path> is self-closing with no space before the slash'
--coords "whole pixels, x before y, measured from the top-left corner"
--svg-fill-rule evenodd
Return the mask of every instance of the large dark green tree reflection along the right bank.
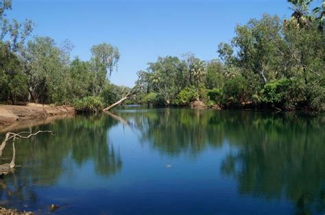
<path id="1" fill-rule="evenodd" d="M 285 197 L 297 214 L 325 210 L 324 115 L 166 109 L 118 112 L 136 123 L 142 140 L 161 153 L 197 155 L 229 144 L 221 173 L 237 180 L 239 194 Z"/>

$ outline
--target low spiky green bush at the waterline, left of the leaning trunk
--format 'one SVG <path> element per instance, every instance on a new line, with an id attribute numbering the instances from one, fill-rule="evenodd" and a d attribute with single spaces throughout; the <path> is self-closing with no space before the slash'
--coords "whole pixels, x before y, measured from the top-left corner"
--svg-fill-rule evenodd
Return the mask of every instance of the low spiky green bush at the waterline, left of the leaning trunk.
<path id="1" fill-rule="evenodd" d="M 104 99 L 101 97 L 84 97 L 73 102 L 75 110 L 82 112 L 101 112 L 104 109 Z"/>

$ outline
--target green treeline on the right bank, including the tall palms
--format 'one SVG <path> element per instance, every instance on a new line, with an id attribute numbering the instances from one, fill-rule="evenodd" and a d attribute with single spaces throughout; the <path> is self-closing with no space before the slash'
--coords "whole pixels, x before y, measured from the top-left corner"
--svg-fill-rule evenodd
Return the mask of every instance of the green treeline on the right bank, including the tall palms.
<path id="1" fill-rule="evenodd" d="M 324 3 L 289 1 L 291 18 L 264 14 L 237 25 L 230 44 L 217 47 L 219 60 L 186 54 L 149 63 L 141 102 L 215 108 L 324 109 Z M 200 101 L 201 103 L 197 103 Z"/>

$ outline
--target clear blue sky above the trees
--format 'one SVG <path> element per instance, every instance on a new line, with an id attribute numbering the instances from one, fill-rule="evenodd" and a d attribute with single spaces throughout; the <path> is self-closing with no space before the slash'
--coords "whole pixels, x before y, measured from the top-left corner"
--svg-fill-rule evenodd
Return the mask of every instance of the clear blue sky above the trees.
<path id="1" fill-rule="evenodd" d="M 322 0 L 316 0 L 320 5 Z M 119 47 L 114 84 L 132 86 L 136 72 L 158 56 L 191 51 L 202 60 L 217 58 L 219 42 L 229 42 L 234 27 L 265 12 L 289 16 L 286 0 L 12 0 L 8 15 L 36 23 L 33 35 L 58 44 L 71 40 L 72 55 L 89 60 L 91 46 Z"/>

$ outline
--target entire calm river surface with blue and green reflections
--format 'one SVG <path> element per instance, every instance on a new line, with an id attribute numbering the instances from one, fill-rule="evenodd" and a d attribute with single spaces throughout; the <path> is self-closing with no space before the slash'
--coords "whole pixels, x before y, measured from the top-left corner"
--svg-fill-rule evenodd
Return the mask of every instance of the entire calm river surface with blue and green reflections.
<path id="1" fill-rule="evenodd" d="M 139 107 L 64 118 L 31 128 L 56 136 L 16 142 L 20 166 L 0 180 L 0 205 L 41 214 L 51 203 L 58 214 L 324 214 L 324 125 L 324 115 Z M 1 162 L 11 152 L 8 144 Z"/>

